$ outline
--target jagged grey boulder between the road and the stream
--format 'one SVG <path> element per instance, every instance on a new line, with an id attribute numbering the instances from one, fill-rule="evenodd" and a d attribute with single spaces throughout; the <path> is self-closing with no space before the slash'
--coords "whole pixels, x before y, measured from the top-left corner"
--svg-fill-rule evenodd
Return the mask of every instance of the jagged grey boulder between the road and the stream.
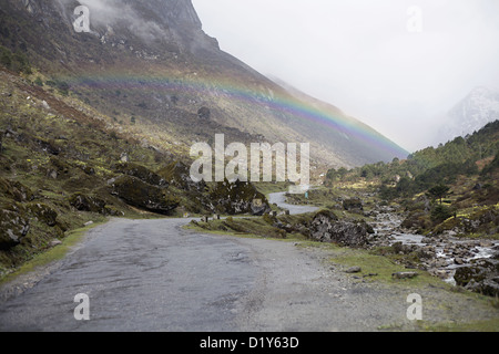
<path id="1" fill-rule="evenodd" d="M 361 248 L 369 243 L 373 232 L 373 228 L 364 220 L 340 221 L 332 211 L 323 210 L 315 215 L 309 235 L 320 242 Z"/>

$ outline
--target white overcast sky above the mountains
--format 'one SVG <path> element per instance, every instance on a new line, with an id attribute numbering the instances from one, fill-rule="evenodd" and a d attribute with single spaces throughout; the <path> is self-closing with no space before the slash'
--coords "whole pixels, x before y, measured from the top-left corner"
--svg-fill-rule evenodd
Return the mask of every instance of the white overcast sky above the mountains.
<path id="1" fill-rule="evenodd" d="M 223 51 L 409 152 L 431 144 L 439 119 L 475 87 L 499 91 L 498 0 L 193 4 Z"/>

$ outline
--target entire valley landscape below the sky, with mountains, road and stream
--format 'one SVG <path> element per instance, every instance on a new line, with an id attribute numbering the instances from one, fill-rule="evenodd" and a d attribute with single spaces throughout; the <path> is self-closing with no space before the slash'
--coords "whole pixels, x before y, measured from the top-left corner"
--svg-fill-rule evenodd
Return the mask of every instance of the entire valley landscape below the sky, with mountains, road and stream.
<path id="1" fill-rule="evenodd" d="M 409 154 L 190 0 L 84 3 L 0 0 L 1 332 L 499 330 L 497 94 Z"/>

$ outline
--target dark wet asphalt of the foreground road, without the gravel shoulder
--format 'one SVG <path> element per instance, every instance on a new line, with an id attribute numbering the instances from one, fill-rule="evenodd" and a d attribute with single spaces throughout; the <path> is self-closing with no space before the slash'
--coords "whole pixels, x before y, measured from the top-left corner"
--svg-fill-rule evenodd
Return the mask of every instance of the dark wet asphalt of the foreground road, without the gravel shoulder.
<path id="1" fill-rule="evenodd" d="M 34 288 L 0 304 L 0 331 L 231 331 L 255 269 L 230 239 L 181 219 L 113 220 Z M 73 302 L 89 295 L 90 321 Z"/>

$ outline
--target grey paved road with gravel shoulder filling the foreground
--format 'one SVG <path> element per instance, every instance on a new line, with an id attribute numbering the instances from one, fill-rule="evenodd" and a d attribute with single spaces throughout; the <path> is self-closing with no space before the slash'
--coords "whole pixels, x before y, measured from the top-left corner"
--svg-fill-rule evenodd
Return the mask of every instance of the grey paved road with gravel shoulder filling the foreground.
<path id="1" fill-rule="evenodd" d="M 113 219 L 93 229 L 34 287 L 0 302 L 0 331 L 299 332 L 410 325 L 406 299 L 415 289 L 356 280 L 325 263 L 329 251 L 320 248 L 201 235 L 183 230 L 187 221 Z M 428 321 L 497 316 L 448 291 L 426 287 L 416 292 L 431 299 L 425 302 Z M 90 299 L 90 321 L 74 319 L 79 293 Z"/>

